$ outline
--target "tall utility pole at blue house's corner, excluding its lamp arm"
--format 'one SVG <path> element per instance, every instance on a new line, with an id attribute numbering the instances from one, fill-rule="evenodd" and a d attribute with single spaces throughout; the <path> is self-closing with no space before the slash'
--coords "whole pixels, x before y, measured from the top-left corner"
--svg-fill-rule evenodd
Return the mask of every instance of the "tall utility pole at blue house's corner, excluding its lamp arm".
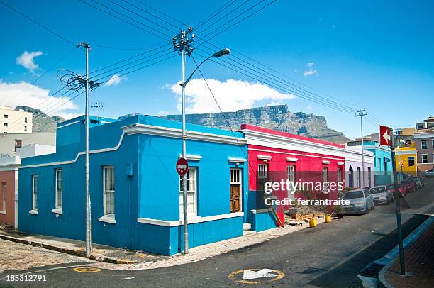
<path id="1" fill-rule="evenodd" d="M 185 55 L 191 55 L 193 48 L 190 43 L 194 40 L 193 28 L 188 27 L 187 31 L 181 31 L 173 38 L 175 51 L 181 53 L 181 107 L 182 107 L 182 157 L 187 159 L 187 132 L 185 129 Z M 189 38 L 189 35 L 190 38 Z M 187 205 L 187 174 L 182 176 L 182 210 L 184 216 L 184 254 L 189 253 L 189 233 L 188 233 L 188 205 Z"/>

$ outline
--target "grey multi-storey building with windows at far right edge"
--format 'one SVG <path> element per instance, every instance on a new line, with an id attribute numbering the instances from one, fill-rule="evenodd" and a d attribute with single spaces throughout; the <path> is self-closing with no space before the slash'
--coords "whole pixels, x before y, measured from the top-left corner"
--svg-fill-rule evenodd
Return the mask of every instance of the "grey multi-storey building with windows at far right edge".
<path id="1" fill-rule="evenodd" d="M 434 116 L 423 122 L 416 122 L 414 133 L 416 148 L 418 149 L 418 172 L 433 169 L 434 167 Z"/>

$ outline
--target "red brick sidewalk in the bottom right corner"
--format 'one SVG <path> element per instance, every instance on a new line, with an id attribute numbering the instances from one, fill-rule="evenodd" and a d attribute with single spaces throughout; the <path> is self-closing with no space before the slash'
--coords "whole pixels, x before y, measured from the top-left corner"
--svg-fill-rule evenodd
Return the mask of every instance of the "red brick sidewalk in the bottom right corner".
<path id="1" fill-rule="evenodd" d="M 433 287 L 434 283 L 434 223 L 404 250 L 406 272 L 409 277 L 399 274 L 399 257 L 395 257 L 385 273 L 391 287 Z"/>

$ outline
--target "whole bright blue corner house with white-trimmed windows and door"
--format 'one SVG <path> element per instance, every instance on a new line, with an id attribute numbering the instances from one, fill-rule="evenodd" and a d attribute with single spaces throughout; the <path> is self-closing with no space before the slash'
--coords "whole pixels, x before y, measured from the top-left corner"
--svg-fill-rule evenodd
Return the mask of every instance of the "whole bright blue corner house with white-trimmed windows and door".
<path id="1" fill-rule="evenodd" d="M 89 126 L 94 243 L 162 255 L 184 250 L 175 169 L 181 123 L 138 115 L 91 117 Z M 84 116 L 57 124 L 56 153 L 22 160 L 21 231 L 84 240 L 84 127 Z M 187 124 L 190 247 L 243 235 L 247 145 L 243 133 L 235 137 Z"/>

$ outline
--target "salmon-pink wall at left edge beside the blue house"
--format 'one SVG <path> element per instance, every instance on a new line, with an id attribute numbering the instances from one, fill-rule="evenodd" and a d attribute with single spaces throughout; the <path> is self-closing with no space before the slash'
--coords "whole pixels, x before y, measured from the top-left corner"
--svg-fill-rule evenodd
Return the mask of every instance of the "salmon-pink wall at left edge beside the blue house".
<path id="1" fill-rule="evenodd" d="M 15 171 L 0 171 L 0 210 L 3 209 L 3 182 L 6 182 L 6 214 L 0 212 L 0 222 L 15 223 Z"/>

